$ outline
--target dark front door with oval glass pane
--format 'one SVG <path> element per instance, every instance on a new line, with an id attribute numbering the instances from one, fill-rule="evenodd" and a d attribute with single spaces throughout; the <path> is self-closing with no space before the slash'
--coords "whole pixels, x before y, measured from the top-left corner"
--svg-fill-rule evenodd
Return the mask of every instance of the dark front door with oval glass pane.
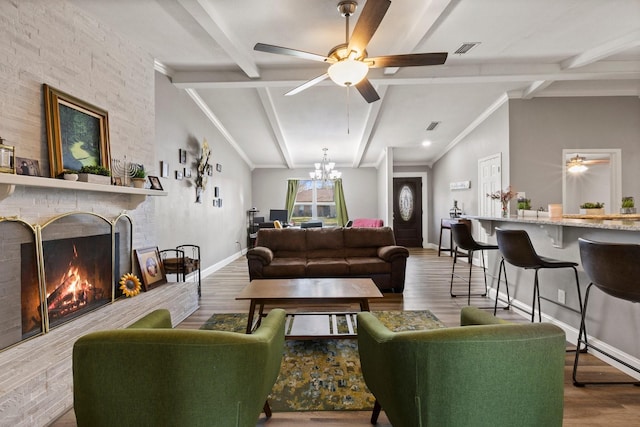
<path id="1" fill-rule="evenodd" d="M 422 247 L 422 179 L 393 178 L 393 232 L 401 246 Z"/>

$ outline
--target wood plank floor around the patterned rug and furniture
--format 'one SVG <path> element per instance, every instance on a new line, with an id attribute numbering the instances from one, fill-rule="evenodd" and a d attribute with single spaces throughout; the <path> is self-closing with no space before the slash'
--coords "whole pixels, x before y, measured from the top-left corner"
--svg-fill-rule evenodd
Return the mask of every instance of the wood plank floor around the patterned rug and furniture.
<path id="1" fill-rule="evenodd" d="M 475 270 L 475 269 L 474 269 Z M 449 281 L 451 278 L 451 258 L 437 256 L 430 249 L 411 249 L 407 264 L 406 287 L 403 295 L 385 294 L 381 301 L 372 301 L 371 310 L 431 310 L 447 326 L 459 325 L 461 307 L 467 303 L 466 297 L 451 298 Z M 185 329 L 199 328 L 213 313 L 244 312 L 249 308 L 247 301 L 236 301 L 235 296 L 248 283 L 247 263 L 244 257 L 239 258 L 218 272 L 208 276 L 202 283 L 200 309 L 182 322 L 178 327 Z M 474 283 L 481 289 L 482 273 L 474 271 Z M 461 284 L 455 292 L 464 293 L 466 284 Z M 488 306 L 492 301 L 475 297 L 472 305 Z M 308 310 L 312 307 L 304 307 Z M 344 309 L 336 307 L 335 309 Z M 326 310 L 327 307 L 322 307 Z M 333 308 L 331 308 L 333 309 Z M 355 307 L 354 307 L 355 309 Z M 498 316 L 517 322 L 526 319 L 511 311 L 500 310 Z M 640 387 L 633 386 L 587 386 L 576 388 L 571 383 L 573 353 L 567 353 L 565 364 L 565 402 L 564 426 L 640 426 Z M 583 360 L 584 359 L 584 360 Z M 598 379 L 626 378 L 616 369 L 602 363 L 591 355 L 581 355 L 581 366 L 584 361 L 585 374 L 594 375 Z M 582 372 L 582 371 L 581 371 Z M 369 412 L 297 412 L 275 413 L 269 420 L 264 417 L 259 426 L 284 427 L 300 425 L 318 425 L 323 427 L 367 426 Z M 75 426 L 73 411 L 69 411 L 53 426 Z M 391 424 L 381 414 L 378 425 L 388 427 Z"/>

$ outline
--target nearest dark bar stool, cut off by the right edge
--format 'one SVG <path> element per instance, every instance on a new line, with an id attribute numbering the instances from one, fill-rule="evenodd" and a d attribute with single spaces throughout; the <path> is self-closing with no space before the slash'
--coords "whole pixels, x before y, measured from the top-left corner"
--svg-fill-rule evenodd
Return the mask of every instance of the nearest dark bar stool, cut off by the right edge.
<path id="1" fill-rule="evenodd" d="M 603 243 L 578 239 L 580 246 L 580 260 L 582 267 L 591 279 L 584 295 L 584 307 L 582 308 L 582 320 L 580 322 L 580 332 L 578 333 L 578 351 L 573 363 L 573 385 L 584 387 L 585 384 L 633 384 L 640 386 L 639 381 L 578 381 L 578 359 L 580 352 L 588 349 L 596 350 L 616 362 L 632 369 L 636 372 L 640 370 L 627 362 L 611 355 L 610 353 L 597 348 L 591 343 L 587 343 L 587 303 L 589 302 L 589 292 L 592 286 L 600 289 L 605 294 L 614 298 L 623 299 L 630 302 L 640 302 L 640 245 L 629 243 Z"/>

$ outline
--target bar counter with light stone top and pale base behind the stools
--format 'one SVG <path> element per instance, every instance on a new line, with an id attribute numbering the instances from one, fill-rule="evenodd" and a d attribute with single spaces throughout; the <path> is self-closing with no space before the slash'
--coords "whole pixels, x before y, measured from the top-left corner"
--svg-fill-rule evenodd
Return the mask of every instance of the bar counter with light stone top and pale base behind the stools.
<path id="1" fill-rule="evenodd" d="M 578 275 L 582 295 L 589 284 L 589 277 L 582 269 L 578 239 L 600 242 L 640 244 L 640 221 L 625 219 L 586 219 L 569 217 L 516 216 L 485 217 L 464 215 L 472 220 L 472 232 L 476 239 L 496 244 L 495 229 L 525 230 L 536 252 L 541 256 L 580 264 Z M 483 235 L 482 231 L 486 232 Z M 495 295 L 500 254 L 488 251 L 488 273 L 492 277 L 490 294 Z M 640 262 L 640 260 L 638 260 Z M 566 271 L 563 271 L 566 270 Z M 533 295 L 533 271 L 507 265 L 511 297 L 514 306 L 530 313 Z M 640 278 L 630 280 L 640 286 Z M 503 283 L 504 285 L 504 283 Z M 501 286 L 502 299 L 504 287 Z M 563 291 L 563 292 L 558 292 Z M 570 269 L 544 270 L 540 272 L 540 293 L 543 299 L 543 321 L 550 321 L 564 329 L 567 340 L 575 343 L 580 325 L 579 304 L 575 279 Z M 562 296 L 561 296 L 562 295 Z M 566 297 L 566 300 L 565 300 Z M 471 301 L 474 304 L 473 298 Z M 498 313 L 498 316 L 500 314 Z M 594 290 L 589 301 L 589 339 L 604 345 L 616 356 L 640 367 L 640 307 L 628 301 L 612 298 Z M 597 355 L 597 354 L 596 354 Z M 607 360 L 608 363 L 612 363 Z M 615 363 L 613 363 L 616 365 Z M 623 369 L 624 370 L 624 369 Z M 626 370 L 628 373 L 629 370 Z M 637 373 L 635 374 L 637 376 Z"/>

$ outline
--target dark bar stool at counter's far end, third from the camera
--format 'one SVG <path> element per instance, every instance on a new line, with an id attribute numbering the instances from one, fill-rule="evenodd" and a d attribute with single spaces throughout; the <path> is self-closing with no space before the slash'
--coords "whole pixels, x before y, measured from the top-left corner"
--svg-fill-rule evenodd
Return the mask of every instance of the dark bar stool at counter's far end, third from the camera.
<path id="1" fill-rule="evenodd" d="M 471 305 L 472 296 L 484 297 L 487 295 L 487 291 L 489 289 L 487 286 L 487 269 L 484 265 L 484 251 L 498 250 L 498 246 L 477 242 L 471 235 L 471 229 L 465 223 L 462 223 L 462 222 L 452 223 L 450 227 L 451 227 L 451 238 L 455 243 L 455 247 L 453 249 L 453 263 L 451 266 L 451 283 L 449 285 L 449 293 L 454 298 L 457 296 L 466 296 L 467 305 Z M 460 252 L 459 249 L 466 251 L 466 253 Z M 471 294 L 471 269 L 473 267 L 473 253 L 477 251 L 480 252 L 480 257 L 482 258 L 482 273 L 484 274 L 484 294 L 472 295 Z M 469 261 L 469 278 L 468 278 L 469 291 L 466 294 L 453 293 L 453 277 L 455 276 L 456 262 L 458 261 L 459 257 L 467 258 L 467 260 Z M 507 299 L 509 299 L 508 286 L 507 286 Z M 497 295 L 496 295 L 496 300 L 497 300 Z M 508 306 L 504 308 L 506 309 L 508 308 Z"/>

